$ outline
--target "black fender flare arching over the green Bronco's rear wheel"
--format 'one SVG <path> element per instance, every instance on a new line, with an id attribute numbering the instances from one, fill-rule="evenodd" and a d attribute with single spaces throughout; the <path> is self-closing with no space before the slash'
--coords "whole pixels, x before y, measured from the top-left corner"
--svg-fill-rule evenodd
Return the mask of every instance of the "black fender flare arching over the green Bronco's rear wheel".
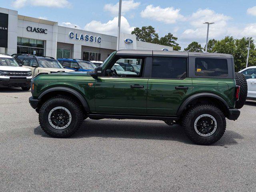
<path id="1" fill-rule="evenodd" d="M 212 98 L 216 98 L 218 100 L 220 100 L 227 109 L 229 109 L 230 107 L 228 106 L 228 103 L 220 96 L 213 94 L 213 93 L 197 93 L 194 94 L 192 96 L 189 96 L 188 98 L 186 98 L 186 100 L 180 105 L 178 111 L 177 111 L 177 115 L 181 115 L 184 108 L 187 106 L 188 103 L 190 103 L 192 100 L 200 98 L 200 97 L 212 97 Z"/>

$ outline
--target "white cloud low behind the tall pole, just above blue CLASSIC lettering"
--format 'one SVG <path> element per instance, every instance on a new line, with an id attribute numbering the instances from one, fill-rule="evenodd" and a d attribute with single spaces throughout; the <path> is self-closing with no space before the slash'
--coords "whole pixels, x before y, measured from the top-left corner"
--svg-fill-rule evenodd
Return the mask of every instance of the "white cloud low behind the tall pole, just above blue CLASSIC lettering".
<path id="1" fill-rule="evenodd" d="M 98 32 L 108 35 L 116 35 L 117 34 L 117 26 L 118 26 L 118 17 L 115 17 L 113 20 L 109 20 L 106 23 L 102 23 L 100 21 L 91 21 L 86 24 L 84 30 Z M 130 33 L 134 30 L 134 27 L 131 27 L 127 19 L 122 16 L 121 17 L 121 32 Z"/>

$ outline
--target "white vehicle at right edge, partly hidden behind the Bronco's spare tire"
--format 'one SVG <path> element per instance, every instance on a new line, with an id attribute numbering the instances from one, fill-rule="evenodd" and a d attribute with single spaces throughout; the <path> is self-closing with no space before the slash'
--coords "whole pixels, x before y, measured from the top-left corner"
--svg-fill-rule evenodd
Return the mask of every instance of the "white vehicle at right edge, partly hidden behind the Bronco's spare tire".
<path id="1" fill-rule="evenodd" d="M 241 70 L 240 73 L 244 74 L 247 81 L 247 98 L 256 99 L 256 66 L 247 67 Z"/>

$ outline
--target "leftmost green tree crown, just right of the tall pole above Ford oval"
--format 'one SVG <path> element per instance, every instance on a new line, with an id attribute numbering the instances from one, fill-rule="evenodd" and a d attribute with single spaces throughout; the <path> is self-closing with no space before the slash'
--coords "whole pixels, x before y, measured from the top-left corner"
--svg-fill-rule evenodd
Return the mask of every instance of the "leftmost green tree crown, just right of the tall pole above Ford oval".
<path id="1" fill-rule="evenodd" d="M 159 38 L 155 28 L 152 26 L 144 26 L 142 28 L 136 27 L 132 31 L 132 34 L 136 35 L 136 40 L 149 42 L 149 43 L 152 43 L 153 40 L 156 40 Z"/>

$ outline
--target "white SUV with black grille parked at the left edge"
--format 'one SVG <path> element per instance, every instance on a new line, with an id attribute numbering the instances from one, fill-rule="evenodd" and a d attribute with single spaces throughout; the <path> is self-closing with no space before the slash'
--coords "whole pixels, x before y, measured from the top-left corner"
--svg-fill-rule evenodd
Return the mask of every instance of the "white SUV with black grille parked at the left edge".
<path id="1" fill-rule="evenodd" d="M 21 87 L 30 90 L 31 70 L 21 67 L 18 62 L 6 54 L 0 54 L 0 87 Z"/>

